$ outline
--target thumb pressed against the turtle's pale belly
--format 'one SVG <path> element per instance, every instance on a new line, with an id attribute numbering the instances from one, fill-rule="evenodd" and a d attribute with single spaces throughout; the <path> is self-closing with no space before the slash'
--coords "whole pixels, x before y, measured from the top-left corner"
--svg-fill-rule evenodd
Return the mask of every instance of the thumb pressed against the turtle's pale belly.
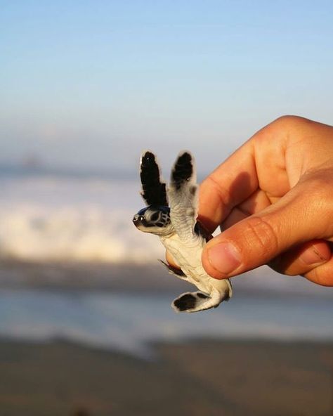
<path id="1" fill-rule="evenodd" d="M 275 204 L 210 240 L 202 264 L 218 279 L 252 270 L 303 242 L 331 238 L 332 212 L 327 181 L 301 181 Z"/>

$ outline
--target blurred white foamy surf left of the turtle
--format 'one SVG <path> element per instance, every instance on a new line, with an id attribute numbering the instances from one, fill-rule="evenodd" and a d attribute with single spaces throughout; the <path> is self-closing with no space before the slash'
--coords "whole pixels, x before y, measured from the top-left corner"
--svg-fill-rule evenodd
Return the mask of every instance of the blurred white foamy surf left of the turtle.
<path id="1" fill-rule="evenodd" d="M 0 179 L 0 256 L 28 261 L 146 263 L 163 256 L 131 219 L 143 206 L 134 181 Z"/>

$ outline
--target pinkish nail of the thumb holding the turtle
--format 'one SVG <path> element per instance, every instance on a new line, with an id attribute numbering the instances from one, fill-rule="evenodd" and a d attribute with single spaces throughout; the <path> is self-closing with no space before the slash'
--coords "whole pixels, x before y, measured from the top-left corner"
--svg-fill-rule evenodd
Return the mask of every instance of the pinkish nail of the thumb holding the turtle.
<path id="1" fill-rule="evenodd" d="M 232 273 L 241 262 L 240 253 L 230 242 L 222 242 L 208 249 L 208 259 L 211 266 L 226 275 Z"/>

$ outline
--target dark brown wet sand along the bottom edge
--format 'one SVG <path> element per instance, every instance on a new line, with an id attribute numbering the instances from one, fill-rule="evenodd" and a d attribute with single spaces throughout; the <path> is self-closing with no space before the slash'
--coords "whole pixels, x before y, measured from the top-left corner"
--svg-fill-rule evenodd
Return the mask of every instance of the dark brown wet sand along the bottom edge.
<path id="1" fill-rule="evenodd" d="M 196 340 L 157 359 L 0 341 L 1 415 L 330 416 L 333 344 Z"/>

